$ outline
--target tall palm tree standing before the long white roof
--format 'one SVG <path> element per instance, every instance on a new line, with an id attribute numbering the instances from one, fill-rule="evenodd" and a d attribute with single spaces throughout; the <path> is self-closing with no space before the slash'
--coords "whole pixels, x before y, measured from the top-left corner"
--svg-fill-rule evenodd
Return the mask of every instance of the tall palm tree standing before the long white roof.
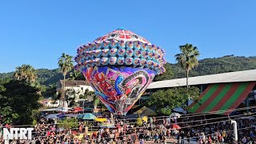
<path id="1" fill-rule="evenodd" d="M 186 89 L 189 89 L 189 73 L 195 66 L 198 66 L 199 51 L 196 46 L 186 43 L 184 46 L 179 46 L 181 54 L 176 54 L 176 61 L 186 71 Z"/>

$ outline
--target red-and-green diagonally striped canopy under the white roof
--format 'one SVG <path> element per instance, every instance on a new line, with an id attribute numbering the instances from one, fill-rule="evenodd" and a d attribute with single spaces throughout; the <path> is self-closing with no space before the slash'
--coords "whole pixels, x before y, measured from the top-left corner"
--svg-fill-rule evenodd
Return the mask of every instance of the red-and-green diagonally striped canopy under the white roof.
<path id="1" fill-rule="evenodd" d="M 250 94 L 256 82 L 213 83 L 190 105 L 190 113 L 230 115 Z M 217 113 L 216 113 L 217 112 Z"/>

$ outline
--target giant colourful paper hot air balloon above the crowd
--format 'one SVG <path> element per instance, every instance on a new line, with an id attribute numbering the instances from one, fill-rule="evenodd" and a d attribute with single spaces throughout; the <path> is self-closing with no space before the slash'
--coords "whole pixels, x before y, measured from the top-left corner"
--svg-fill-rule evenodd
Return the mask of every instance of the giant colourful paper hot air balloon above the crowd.
<path id="1" fill-rule="evenodd" d="M 82 71 L 111 113 L 126 114 L 156 74 L 165 72 L 165 51 L 125 28 L 78 47 L 77 70 Z"/>

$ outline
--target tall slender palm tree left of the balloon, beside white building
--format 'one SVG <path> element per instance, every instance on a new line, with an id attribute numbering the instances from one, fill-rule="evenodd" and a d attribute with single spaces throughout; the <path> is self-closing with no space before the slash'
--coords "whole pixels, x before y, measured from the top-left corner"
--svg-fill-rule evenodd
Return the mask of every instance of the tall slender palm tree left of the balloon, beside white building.
<path id="1" fill-rule="evenodd" d="M 65 53 L 62 53 L 61 58 L 58 58 L 58 66 L 61 69 L 63 74 L 62 98 L 64 98 L 64 93 L 65 93 L 64 89 L 65 89 L 66 74 L 73 68 L 72 58 L 73 58 L 72 56 Z"/>

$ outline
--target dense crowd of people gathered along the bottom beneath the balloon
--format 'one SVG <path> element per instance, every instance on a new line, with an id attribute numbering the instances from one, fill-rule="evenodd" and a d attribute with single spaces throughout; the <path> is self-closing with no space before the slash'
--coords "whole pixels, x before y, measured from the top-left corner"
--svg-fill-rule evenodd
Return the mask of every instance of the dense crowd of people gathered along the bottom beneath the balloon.
<path id="1" fill-rule="evenodd" d="M 256 120 L 237 118 L 237 122 L 237 143 L 256 143 Z M 63 129 L 57 121 L 42 118 L 34 126 L 32 140 L 13 140 L 10 143 L 235 143 L 233 126 L 227 117 L 149 118 L 141 126 L 130 119 L 115 119 L 112 123 L 115 128 L 101 128 L 99 122 L 90 122 L 91 129 L 86 130 L 87 122 L 79 122 L 77 128 Z M 2 122 L 0 126 L 6 127 Z M 2 137 L 0 142 L 4 142 Z"/>

